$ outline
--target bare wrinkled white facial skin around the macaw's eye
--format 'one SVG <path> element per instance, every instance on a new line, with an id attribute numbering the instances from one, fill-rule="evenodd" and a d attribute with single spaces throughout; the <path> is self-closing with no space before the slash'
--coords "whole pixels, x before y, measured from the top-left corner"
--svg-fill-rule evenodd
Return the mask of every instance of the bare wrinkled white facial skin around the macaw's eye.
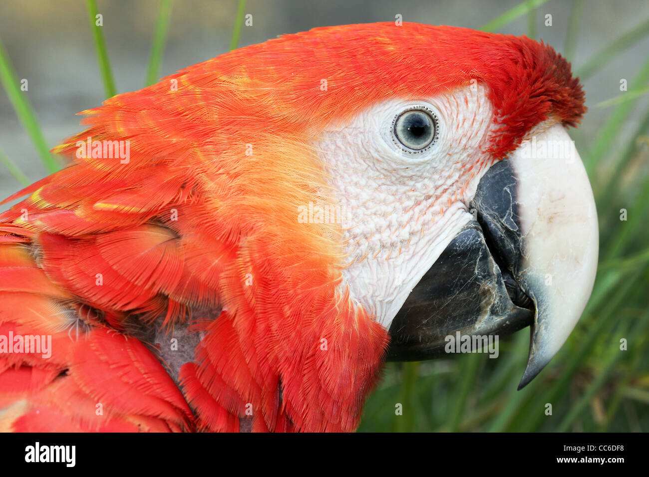
<path id="1" fill-rule="evenodd" d="M 408 153 L 393 121 L 424 107 L 437 118 L 437 140 Z M 346 210 L 343 228 L 350 295 L 389 328 L 410 291 L 472 219 L 469 202 L 492 164 L 483 152 L 493 124 L 480 84 L 436 97 L 376 104 L 319 143 L 331 186 Z"/>

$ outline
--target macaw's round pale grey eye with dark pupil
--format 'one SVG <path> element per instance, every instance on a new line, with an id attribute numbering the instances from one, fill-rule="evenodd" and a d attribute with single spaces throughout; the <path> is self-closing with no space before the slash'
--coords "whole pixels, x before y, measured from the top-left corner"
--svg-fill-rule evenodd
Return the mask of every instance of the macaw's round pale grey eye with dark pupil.
<path id="1" fill-rule="evenodd" d="M 421 153 L 437 138 L 437 117 L 423 107 L 404 111 L 395 117 L 394 132 L 406 152 Z"/>

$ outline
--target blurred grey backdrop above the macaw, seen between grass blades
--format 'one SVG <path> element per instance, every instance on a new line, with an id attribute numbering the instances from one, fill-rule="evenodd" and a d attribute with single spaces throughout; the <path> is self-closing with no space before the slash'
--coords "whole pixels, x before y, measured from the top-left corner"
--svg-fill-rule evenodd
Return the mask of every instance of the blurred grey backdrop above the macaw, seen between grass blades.
<path id="1" fill-rule="evenodd" d="M 519 3 L 520 0 L 248 0 L 246 13 L 252 14 L 253 25 L 242 28 L 239 45 L 323 25 L 394 21 L 396 14 L 401 14 L 404 21 L 477 29 Z M 647 0 L 590 0 L 584 4 L 573 61 L 576 66 L 649 17 Z M 118 92 L 143 87 L 158 5 L 158 0 L 98 1 Z M 564 47 L 570 6 L 570 0 L 550 0 L 537 9 L 537 39 L 550 43 L 559 52 Z M 236 0 L 175 0 L 159 77 L 228 51 L 236 10 Z M 546 13 L 552 14 L 552 27 L 544 25 Z M 499 32 L 527 34 L 528 18 L 522 16 Z M 80 117 L 75 114 L 99 105 L 104 99 L 86 3 L 3 1 L 0 38 L 18 78 L 29 80 L 27 94 L 49 145 L 53 147 L 79 131 Z M 593 106 L 619 95 L 620 79 L 631 82 L 648 51 L 646 36 L 585 81 L 589 112 L 580 130 L 572 133 L 578 149 L 580 145 L 589 146 L 611 112 L 611 108 Z M 649 95 L 639 101 L 643 104 L 635 108 L 636 116 L 628 123 L 631 128 L 622 133 L 622 138 L 635 129 L 633 121 L 637 122 L 639 113 L 646 111 Z M 46 175 L 1 88 L 0 151 L 14 160 L 30 180 Z M 19 188 L 16 179 L 0 166 L 0 195 L 6 197 Z"/>

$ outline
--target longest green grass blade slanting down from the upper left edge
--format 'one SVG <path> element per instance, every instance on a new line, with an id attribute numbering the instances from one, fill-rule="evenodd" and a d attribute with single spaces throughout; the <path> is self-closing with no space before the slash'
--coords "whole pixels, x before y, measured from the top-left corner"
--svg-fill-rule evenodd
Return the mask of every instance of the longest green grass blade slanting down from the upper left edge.
<path id="1" fill-rule="evenodd" d="M 36 119 L 36 114 L 34 114 L 34 110 L 32 109 L 31 104 L 29 104 L 27 93 L 20 89 L 18 77 L 16 77 L 14 68 L 9 60 L 9 55 L 7 55 L 5 46 L 1 40 L 0 82 L 2 82 L 6 95 L 14 107 L 16 116 L 18 116 L 18 119 L 27 131 L 27 134 L 29 134 L 34 147 L 36 147 L 36 152 L 38 152 L 43 165 L 45 165 L 45 169 L 48 173 L 58 171 L 58 164 L 56 164 L 52 154 L 49 153 L 49 147 L 47 146 L 45 136 L 43 136 L 43 132 L 38 124 L 38 120 Z"/>

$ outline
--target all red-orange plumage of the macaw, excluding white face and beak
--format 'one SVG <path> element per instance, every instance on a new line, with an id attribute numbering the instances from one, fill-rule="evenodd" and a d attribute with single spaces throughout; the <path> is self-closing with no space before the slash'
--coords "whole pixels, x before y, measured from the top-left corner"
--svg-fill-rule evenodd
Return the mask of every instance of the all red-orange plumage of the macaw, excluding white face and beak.
<path id="1" fill-rule="evenodd" d="M 585 111 L 548 45 L 390 22 L 251 45 L 84 112 L 54 150 L 71 165 L 0 214 L 1 330 L 53 338 L 49 360 L 0 356 L 0 430 L 354 430 L 388 337 L 343 284 L 341 227 L 297 221 L 334 206 L 313 145 L 376 103 L 472 81 L 493 158 Z M 88 138 L 128 142 L 128 160 L 77 154 Z M 136 336 L 186 320 L 201 342 L 183 395 Z"/>

